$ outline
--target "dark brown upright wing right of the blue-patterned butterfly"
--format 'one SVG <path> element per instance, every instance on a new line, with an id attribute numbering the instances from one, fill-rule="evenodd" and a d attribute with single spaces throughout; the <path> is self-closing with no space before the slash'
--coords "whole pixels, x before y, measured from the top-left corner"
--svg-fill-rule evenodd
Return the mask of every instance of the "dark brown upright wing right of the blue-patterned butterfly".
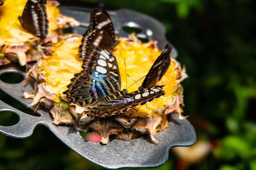
<path id="1" fill-rule="evenodd" d="M 163 49 L 160 56 L 156 59 L 149 72 L 147 73 L 141 88 L 152 87 L 156 84 L 156 82 L 160 81 L 163 75 L 166 73 L 171 59 L 170 52 L 173 46 L 169 43 L 166 43 L 165 48 Z"/>

